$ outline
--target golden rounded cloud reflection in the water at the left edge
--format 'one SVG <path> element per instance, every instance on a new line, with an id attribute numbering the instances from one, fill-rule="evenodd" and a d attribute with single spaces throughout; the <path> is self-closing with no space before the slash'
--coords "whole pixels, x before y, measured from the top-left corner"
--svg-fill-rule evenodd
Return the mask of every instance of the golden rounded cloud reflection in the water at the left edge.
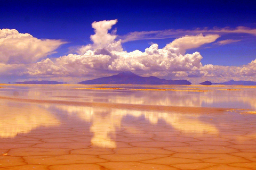
<path id="1" fill-rule="evenodd" d="M 3 104 L 3 101 L 1 101 Z M 57 126 L 59 120 L 36 105 L 6 103 L 1 106 L 0 137 L 14 138 L 19 133 L 29 133 L 39 126 Z"/>

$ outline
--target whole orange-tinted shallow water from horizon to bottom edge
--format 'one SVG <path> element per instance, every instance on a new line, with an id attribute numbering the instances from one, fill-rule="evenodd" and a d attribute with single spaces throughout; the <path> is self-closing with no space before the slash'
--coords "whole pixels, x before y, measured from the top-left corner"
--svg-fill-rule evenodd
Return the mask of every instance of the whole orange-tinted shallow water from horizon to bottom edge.
<path id="1" fill-rule="evenodd" d="M 256 167 L 255 87 L 0 87 L 2 169 Z"/>

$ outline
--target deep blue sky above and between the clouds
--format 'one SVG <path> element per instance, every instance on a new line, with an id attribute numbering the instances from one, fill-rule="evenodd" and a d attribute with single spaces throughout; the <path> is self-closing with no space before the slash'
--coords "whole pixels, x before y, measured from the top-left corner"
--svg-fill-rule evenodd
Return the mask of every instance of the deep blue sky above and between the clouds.
<path id="1" fill-rule="evenodd" d="M 69 48 L 90 44 L 91 23 L 118 19 L 117 35 L 134 31 L 214 27 L 256 28 L 256 1 L 14 1 L 0 0 L 0 29 L 16 29 L 40 39 L 63 39 L 51 57 L 67 55 Z M 203 64 L 243 65 L 256 58 L 255 36 L 223 46 L 207 44 L 187 53 L 200 52 Z M 218 40 L 240 39 L 225 35 Z M 247 36 L 247 37 L 246 37 Z M 178 38 L 178 37 L 177 37 Z M 164 47 L 175 38 L 130 41 L 127 52 L 142 52 L 150 43 Z"/>

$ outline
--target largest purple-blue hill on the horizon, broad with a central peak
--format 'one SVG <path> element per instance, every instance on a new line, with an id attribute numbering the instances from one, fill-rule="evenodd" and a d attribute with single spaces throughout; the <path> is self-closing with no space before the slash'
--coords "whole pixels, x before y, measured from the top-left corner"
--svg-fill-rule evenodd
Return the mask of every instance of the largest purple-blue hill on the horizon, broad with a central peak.
<path id="1" fill-rule="evenodd" d="M 93 80 L 78 82 L 78 84 L 186 84 L 191 83 L 187 80 L 166 80 L 154 76 L 141 77 L 130 71 L 122 72 L 110 77 L 103 77 Z"/>

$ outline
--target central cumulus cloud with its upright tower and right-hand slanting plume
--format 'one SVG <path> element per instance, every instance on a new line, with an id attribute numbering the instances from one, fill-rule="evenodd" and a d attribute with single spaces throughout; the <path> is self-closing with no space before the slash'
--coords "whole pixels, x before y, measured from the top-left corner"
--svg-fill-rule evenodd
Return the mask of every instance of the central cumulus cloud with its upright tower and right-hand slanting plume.
<path id="1" fill-rule="evenodd" d="M 191 71 L 202 67 L 202 56 L 185 50 L 212 43 L 218 35 L 185 36 L 175 39 L 164 48 L 157 44 L 145 49 L 126 52 L 122 40 L 108 33 L 117 20 L 93 22 L 95 34 L 90 38 L 93 44 L 78 48 L 78 54 L 59 58 L 47 58 L 28 69 L 29 75 L 83 76 L 94 71 Z"/>

